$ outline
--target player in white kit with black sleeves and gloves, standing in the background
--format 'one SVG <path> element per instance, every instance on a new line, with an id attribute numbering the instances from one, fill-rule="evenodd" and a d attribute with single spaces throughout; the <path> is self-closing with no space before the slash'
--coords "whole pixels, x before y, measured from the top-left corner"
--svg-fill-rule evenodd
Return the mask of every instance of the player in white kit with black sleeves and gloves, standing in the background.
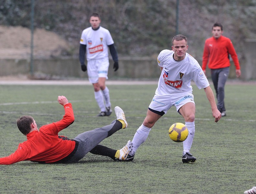
<path id="1" fill-rule="evenodd" d="M 95 100 L 100 107 L 98 116 L 109 116 L 112 113 L 112 110 L 109 90 L 105 83 L 106 79 L 108 79 L 108 47 L 112 59 L 114 60 L 113 69 L 115 69 L 115 71 L 118 70 L 117 50 L 114 46 L 114 41 L 110 32 L 106 28 L 100 26 L 101 20 L 97 13 L 93 13 L 90 16 L 89 22 L 91 27 L 84 29 L 81 35 L 79 60 L 83 71 L 86 71 L 88 68 L 88 78 L 93 84 Z M 87 67 L 84 63 L 85 52 Z"/>

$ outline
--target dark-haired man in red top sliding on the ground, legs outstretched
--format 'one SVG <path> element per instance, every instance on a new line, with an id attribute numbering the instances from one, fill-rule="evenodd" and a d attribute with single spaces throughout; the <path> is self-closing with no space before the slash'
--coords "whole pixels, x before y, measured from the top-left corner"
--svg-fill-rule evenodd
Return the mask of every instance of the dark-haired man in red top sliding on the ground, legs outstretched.
<path id="1" fill-rule="evenodd" d="M 63 105 L 65 110 L 63 119 L 58 122 L 44 125 L 38 129 L 31 116 L 22 116 L 17 120 L 18 129 L 27 136 L 27 141 L 19 144 L 17 150 L 10 156 L 0 158 L 0 164 L 9 165 L 24 160 L 39 163 L 78 162 L 88 152 L 109 156 L 116 161 L 127 159 L 128 153 L 132 150 L 130 141 L 120 150 L 98 145 L 119 129 L 127 128 L 128 124 L 120 107 L 115 107 L 117 119 L 110 125 L 86 131 L 74 139 L 69 139 L 59 136 L 58 133 L 74 122 L 72 104 L 65 96 L 59 96 L 58 102 Z"/>

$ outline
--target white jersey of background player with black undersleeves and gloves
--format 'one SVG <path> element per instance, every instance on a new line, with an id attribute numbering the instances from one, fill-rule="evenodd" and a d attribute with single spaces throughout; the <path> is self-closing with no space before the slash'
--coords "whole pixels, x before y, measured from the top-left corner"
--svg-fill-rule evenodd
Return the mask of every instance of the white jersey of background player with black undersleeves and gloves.
<path id="1" fill-rule="evenodd" d="M 114 44 L 114 41 L 106 28 L 100 26 L 93 30 L 88 27 L 82 32 L 80 44 L 86 45 L 86 59 L 89 61 L 108 58 L 108 45 Z"/>

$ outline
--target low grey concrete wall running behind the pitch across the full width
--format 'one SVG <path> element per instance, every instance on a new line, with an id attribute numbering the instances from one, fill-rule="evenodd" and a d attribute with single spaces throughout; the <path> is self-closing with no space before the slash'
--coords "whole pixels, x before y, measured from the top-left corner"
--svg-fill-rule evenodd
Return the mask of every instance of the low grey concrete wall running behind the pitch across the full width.
<path id="1" fill-rule="evenodd" d="M 255 42 L 249 41 L 247 48 L 248 60 L 247 62 L 241 62 L 241 79 L 252 80 L 256 79 L 256 59 L 253 58 L 253 48 L 256 45 Z M 201 61 L 198 61 L 201 64 Z M 30 74 L 30 61 L 27 59 L 0 59 L 0 76 L 18 75 L 18 74 Z M 63 78 L 87 78 L 87 73 L 83 72 L 80 67 L 78 59 L 34 59 L 33 73 L 36 76 L 45 78 L 48 76 L 51 79 L 57 76 L 60 79 Z M 114 72 L 113 61 L 110 60 L 110 66 L 108 70 L 109 79 L 115 78 L 131 78 L 131 79 L 157 79 L 160 75 L 160 69 L 158 68 L 156 59 L 152 58 L 120 58 L 119 69 Z M 210 78 L 210 70 L 206 70 L 206 75 Z M 231 61 L 229 78 L 236 78 L 235 66 Z"/>

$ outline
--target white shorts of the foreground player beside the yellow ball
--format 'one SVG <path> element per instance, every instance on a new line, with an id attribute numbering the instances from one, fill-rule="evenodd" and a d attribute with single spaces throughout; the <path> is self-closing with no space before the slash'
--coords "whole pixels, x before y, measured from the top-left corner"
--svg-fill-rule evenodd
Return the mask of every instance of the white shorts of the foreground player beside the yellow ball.
<path id="1" fill-rule="evenodd" d="M 162 96 L 155 94 L 149 108 L 159 112 L 163 111 L 166 114 L 172 106 L 175 106 L 178 112 L 179 109 L 188 102 L 195 104 L 194 95 L 191 92 L 173 93 Z"/>

